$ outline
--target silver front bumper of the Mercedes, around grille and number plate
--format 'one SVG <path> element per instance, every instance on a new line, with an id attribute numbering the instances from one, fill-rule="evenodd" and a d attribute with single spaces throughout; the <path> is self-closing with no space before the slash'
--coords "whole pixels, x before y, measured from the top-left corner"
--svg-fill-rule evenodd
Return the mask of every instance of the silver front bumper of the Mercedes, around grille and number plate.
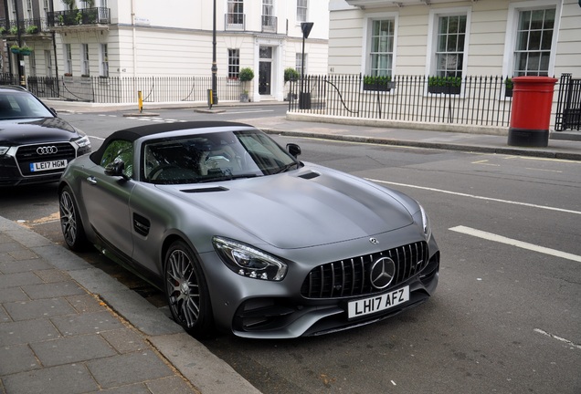
<path id="1" fill-rule="evenodd" d="M 401 239 L 410 239 L 405 234 L 395 238 L 396 243 Z M 353 243 L 333 245 L 333 252 L 336 255 L 344 255 L 348 253 L 345 251 L 352 249 Z M 306 256 L 317 254 L 316 252 L 304 251 L 302 257 L 306 259 Z M 325 250 L 325 253 L 327 252 L 331 250 Z M 238 337 L 280 339 L 316 336 L 360 327 L 422 304 L 434 293 L 438 285 L 439 255 L 438 245 L 432 237 L 428 242 L 426 256 L 428 263 L 422 264 L 421 270 L 411 272 L 397 282 L 394 281 L 382 291 L 375 290 L 371 294 L 362 293 L 357 296 L 332 294 L 324 298 L 301 294 L 301 285 L 304 289 L 305 278 L 312 271 L 309 268 L 320 264 L 292 266 L 289 269 L 290 275 L 283 281 L 270 282 L 234 274 L 214 253 L 206 254 L 203 260 L 205 269 L 213 271 L 206 273 L 206 278 L 220 277 L 219 284 L 211 281 L 208 284 L 217 326 L 227 328 Z M 291 260 L 297 262 L 303 259 Z M 405 286 L 409 286 L 409 299 L 406 302 L 373 314 L 349 318 L 349 302 L 370 296 L 381 296 Z"/>

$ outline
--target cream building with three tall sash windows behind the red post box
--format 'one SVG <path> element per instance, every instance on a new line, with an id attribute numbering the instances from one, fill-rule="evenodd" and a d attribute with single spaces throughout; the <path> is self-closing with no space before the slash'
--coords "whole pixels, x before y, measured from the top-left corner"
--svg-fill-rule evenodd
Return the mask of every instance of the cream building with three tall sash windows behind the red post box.
<path id="1" fill-rule="evenodd" d="M 578 0 L 332 0 L 330 73 L 581 78 Z"/>

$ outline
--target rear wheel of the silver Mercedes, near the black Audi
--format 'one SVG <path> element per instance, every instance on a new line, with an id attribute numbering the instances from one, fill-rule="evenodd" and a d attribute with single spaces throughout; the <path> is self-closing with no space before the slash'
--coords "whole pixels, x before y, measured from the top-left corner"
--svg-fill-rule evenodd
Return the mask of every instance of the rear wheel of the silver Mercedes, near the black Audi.
<path id="1" fill-rule="evenodd" d="M 65 186 L 58 193 L 58 210 L 60 212 L 60 229 L 69 249 L 75 252 L 88 250 L 90 243 L 87 240 L 79 208 L 69 186 Z"/>

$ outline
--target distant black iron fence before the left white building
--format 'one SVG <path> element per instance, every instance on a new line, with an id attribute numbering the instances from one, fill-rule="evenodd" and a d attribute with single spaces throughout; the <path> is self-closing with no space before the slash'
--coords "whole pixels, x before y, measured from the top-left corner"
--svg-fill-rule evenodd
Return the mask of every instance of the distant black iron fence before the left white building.
<path id="1" fill-rule="evenodd" d="M 18 80 L 6 77 L 8 84 Z M 211 77 L 29 77 L 27 88 L 42 99 L 97 102 L 103 104 L 129 104 L 143 102 L 206 102 L 207 90 L 212 88 Z M 2 83 L 0 81 L 0 83 Z M 238 100 L 241 91 L 238 81 L 217 78 L 220 100 Z"/>

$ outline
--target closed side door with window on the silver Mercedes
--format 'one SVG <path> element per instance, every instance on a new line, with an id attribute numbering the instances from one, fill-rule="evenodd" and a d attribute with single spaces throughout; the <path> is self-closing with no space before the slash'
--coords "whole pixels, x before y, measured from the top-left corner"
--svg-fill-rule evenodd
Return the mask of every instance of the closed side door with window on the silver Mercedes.
<path id="1" fill-rule="evenodd" d="M 105 169 L 112 162 L 122 160 L 128 163 L 125 175 L 131 177 L 132 150 L 130 141 L 111 141 L 100 165 L 88 171 L 81 186 L 90 226 L 104 244 L 126 259 L 131 259 L 133 251 L 129 202 L 135 182 L 131 178 L 107 175 Z"/>

